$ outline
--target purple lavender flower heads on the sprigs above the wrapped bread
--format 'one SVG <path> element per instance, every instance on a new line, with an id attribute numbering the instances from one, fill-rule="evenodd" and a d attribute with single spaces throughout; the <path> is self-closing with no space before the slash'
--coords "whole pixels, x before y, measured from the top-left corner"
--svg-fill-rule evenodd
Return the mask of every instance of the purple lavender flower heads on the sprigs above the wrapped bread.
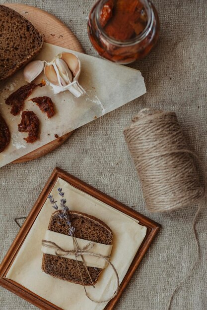
<path id="1" fill-rule="evenodd" d="M 56 204 L 57 201 L 54 200 L 52 195 L 48 195 L 48 199 L 50 200 L 52 207 L 55 210 L 59 211 L 59 214 L 58 214 L 59 218 L 64 220 L 64 222 L 68 226 L 69 236 L 74 236 L 75 227 L 71 226 L 71 222 L 69 220 L 69 207 L 66 206 L 67 201 L 64 198 L 65 193 L 62 192 L 62 188 L 60 187 L 58 188 L 58 193 L 62 197 L 62 199 L 60 200 L 60 209 L 58 208 L 58 205 Z M 58 222 L 58 224 L 61 225 L 60 222 Z"/>

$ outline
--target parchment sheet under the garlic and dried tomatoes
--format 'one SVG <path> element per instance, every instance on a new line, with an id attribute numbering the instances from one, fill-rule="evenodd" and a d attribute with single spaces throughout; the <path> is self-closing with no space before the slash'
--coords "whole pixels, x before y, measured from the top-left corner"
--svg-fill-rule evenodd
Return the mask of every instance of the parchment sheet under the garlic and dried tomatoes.
<path id="1" fill-rule="evenodd" d="M 44 43 L 36 59 L 49 61 L 63 51 L 69 52 L 67 49 Z M 140 71 L 83 53 L 74 53 L 81 61 L 79 83 L 85 89 L 86 95 L 75 98 L 69 91 L 54 95 L 49 85 L 35 89 L 24 104 L 24 110 L 34 111 L 40 120 L 40 137 L 33 144 L 27 144 L 23 140 L 26 133 L 18 132 L 17 125 L 21 115 L 11 115 L 10 107 L 5 104 L 5 99 L 11 93 L 26 84 L 23 70 L 0 85 L 0 113 L 11 132 L 9 146 L 0 153 L 0 167 L 55 140 L 56 134 L 61 137 L 146 92 Z M 35 82 L 39 83 L 42 78 L 43 74 Z M 35 103 L 29 101 L 39 96 L 48 96 L 53 100 L 56 114 L 51 119 L 48 119 L 46 113 Z"/>

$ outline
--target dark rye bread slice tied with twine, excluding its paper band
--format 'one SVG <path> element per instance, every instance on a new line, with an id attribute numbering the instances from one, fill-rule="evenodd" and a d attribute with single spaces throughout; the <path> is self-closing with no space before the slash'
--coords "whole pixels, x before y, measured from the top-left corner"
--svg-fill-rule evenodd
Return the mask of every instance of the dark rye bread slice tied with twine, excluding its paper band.
<path id="1" fill-rule="evenodd" d="M 68 227 L 63 219 L 55 211 L 50 219 L 49 230 L 68 235 Z M 69 211 L 71 225 L 75 227 L 75 237 L 92 242 L 111 245 L 113 233 L 111 229 L 101 220 L 78 211 Z M 58 222 L 61 224 L 58 224 Z M 88 273 L 82 261 L 78 261 L 84 285 L 92 285 Z M 90 276 L 95 284 L 101 274 L 102 269 L 87 267 Z M 82 281 L 78 271 L 76 260 L 58 257 L 50 254 L 43 254 L 42 270 L 47 274 L 66 280 L 72 283 L 81 284 Z"/>

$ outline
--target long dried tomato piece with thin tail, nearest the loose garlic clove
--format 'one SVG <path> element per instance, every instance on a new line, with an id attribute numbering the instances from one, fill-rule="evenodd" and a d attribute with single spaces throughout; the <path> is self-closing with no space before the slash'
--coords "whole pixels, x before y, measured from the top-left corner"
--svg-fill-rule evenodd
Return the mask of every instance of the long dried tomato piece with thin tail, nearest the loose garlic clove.
<path id="1" fill-rule="evenodd" d="M 19 89 L 17 89 L 14 93 L 12 93 L 5 100 L 6 104 L 11 105 L 10 113 L 12 115 L 14 116 L 18 115 L 19 112 L 23 110 L 25 99 L 27 99 L 31 95 L 33 89 L 35 89 L 38 86 L 40 87 L 45 86 L 45 81 L 42 81 L 40 84 L 30 83 L 30 84 L 24 85 L 20 87 Z"/>

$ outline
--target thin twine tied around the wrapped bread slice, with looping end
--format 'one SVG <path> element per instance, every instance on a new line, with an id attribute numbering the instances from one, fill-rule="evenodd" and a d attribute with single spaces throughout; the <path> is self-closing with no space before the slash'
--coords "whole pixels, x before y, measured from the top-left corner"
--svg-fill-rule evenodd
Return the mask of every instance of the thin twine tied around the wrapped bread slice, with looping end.
<path id="1" fill-rule="evenodd" d="M 84 284 L 84 281 L 83 281 L 83 278 L 82 278 L 82 274 L 81 274 L 81 271 L 79 269 L 79 266 L 78 266 L 78 263 L 77 263 L 77 267 L 78 267 L 78 272 L 80 274 L 80 278 L 81 278 L 81 282 L 82 282 L 82 285 L 84 287 L 84 290 L 85 290 L 85 295 L 87 296 L 88 299 L 90 299 L 92 302 L 94 303 L 97 303 L 97 304 L 102 304 L 102 303 L 106 303 L 106 302 L 109 302 L 110 300 L 112 300 L 115 296 L 117 296 L 118 292 L 119 292 L 119 276 L 118 276 L 118 273 L 117 273 L 117 270 L 116 268 L 114 267 L 114 265 L 112 264 L 112 262 L 109 260 L 110 256 L 104 256 L 104 255 L 101 255 L 101 254 L 96 254 L 96 253 L 92 253 L 92 252 L 89 252 L 89 250 L 91 250 L 94 246 L 94 244 L 92 242 L 89 242 L 84 248 L 82 249 L 74 249 L 73 250 L 66 250 L 66 249 L 63 249 L 61 248 L 60 246 L 58 246 L 55 242 L 52 242 L 52 241 L 47 241 L 47 240 L 42 240 L 42 245 L 44 247 L 47 247 L 47 248 L 52 248 L 55 250 L 55 254 L 56 256 L 61 256 L 61 257 L 65 257 L 67 255 L 74 255 L 75 256 L 75 259 L 76 259 L 76 263 L 77 263 L 77 257 L 78 256 L 81 256 L 81 255 L 89 255 L 89 256 L 94 256 L 94 257 L 97 257 L 97 258 L 103 258 L 105 261 L 107 261 L 109 263 L 109 265 L 112 267 L 115 275 L 116 275 L 116 279 L 117 279 L 117 285 L 116 285 L 116 291 L 115 293 L 109 298 L 109 299 L 106 299 L 106 300 L 103 300 L 103 301 L 97 301 L 97 300 L 94 300 L 92 299 L 89 294 L 87 293 L 86 291 L 86 287 L 85 287 L 85 284 Z"/>

